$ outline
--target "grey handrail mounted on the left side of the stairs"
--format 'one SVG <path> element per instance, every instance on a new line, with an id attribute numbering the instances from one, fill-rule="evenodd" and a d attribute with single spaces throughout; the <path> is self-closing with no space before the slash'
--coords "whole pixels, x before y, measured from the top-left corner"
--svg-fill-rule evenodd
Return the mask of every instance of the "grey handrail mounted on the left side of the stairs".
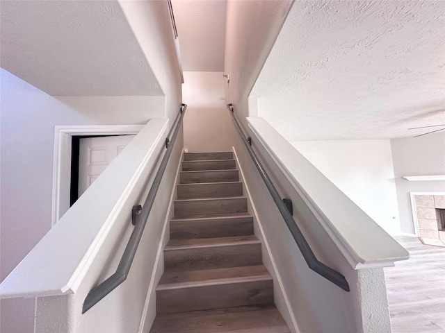
<path id="1" fill-rule="evenodd" d="M 175 132 L 172 135 L 172 139 L 169 140 L 167 138 L 165 140 L 165 147 L 167 148 L 167 151 L 165 151 L 165 155 L 162 159 L 161 165 L 159 166 L 156 176 L 154 177 L 152 187 L 150 188 L 147 194 L 147 198 L 145 199 L 145 203 L 142 207 L 142 210 L 140 211 L 140 214 L 138 214 L 136 226 L 134 227 L 133 232 L 131 232 L 131 237 L 128 241 L 127 247 L 124 250 L 122 258 L 120 259 L 118 269 L 113 275 L 111 275 L 104 282 L 99 284 L 97 287 L 91 289 L 91 291 L 86 296 L 85 301 L 83 302 L 82 314 L 91 309 L 91 307 L 97 304 L 99 300 L 102 300 L 102 298 L 107 296 L 108 293 L 111 293 L 111 291 L 113 291 L 115 287 L 118 287 L 119 284 L 121 284 L 127 279 L 128 273 L 131 268 L 131 263 L 133 262 L 134 255 L 136 255 L 136 250 L 138 250 L 140 238 L 142 237 L 142 234 L 144 232 L 145 224 L 147 223 L 148 216 L 150 214 L 150 211 L 152 210 L 154 198 L 156 197 L 159 185 L 161 185 L 161 180 L 163 173 L 165 171 L 165 167 L 167 167 L 168 159 L 172 153 L 176 137 L 179 133 L 179 128 L 181 128 L 181 122 L 182 119 L 184 118 L 184 114 L 186 113 L 186 108 L 187 108 L 186 104 L 181 105 L 181 110 L 180 110 L 181 114 L 179 115 L 179 120 L 177 122 Z"/>

